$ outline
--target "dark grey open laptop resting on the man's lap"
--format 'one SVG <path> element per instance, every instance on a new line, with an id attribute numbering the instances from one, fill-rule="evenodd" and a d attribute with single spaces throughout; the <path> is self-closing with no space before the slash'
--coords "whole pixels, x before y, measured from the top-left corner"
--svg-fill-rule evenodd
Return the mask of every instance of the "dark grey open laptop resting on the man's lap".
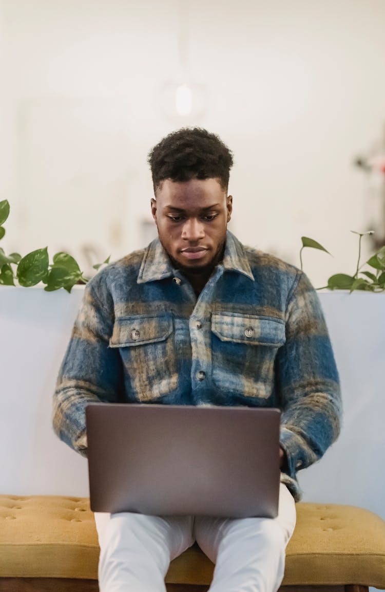
<path id="1" fill-rule="evenodd" d="M 90 404 L 91 509 L 274 518 L 279 427 L 275 408 Z"/>

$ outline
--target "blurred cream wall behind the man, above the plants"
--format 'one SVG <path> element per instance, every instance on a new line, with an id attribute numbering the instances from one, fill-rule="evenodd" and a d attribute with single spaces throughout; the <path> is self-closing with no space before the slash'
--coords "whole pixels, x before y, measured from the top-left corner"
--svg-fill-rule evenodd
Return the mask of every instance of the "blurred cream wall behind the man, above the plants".
<path id="1" fill-rule="evenodd" d="M 385 243 L 383 0 L 0 0 L 1 242 L 82 269 L 154 236 L 147 153 L 234 152 L 231 230 L 315 287 Z"/>

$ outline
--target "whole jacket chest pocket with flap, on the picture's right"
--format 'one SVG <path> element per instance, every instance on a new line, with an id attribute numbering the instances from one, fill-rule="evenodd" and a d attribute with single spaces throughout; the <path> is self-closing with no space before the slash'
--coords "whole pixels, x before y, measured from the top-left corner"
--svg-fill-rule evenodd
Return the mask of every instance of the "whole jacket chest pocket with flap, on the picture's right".
<path id="1" fill-rule="evenodd" d="M 218 312 L 212 314 L 211 331 L 213 382 L 244 397 L 270 397 L 274 360 L 286 339 L 284 321 Z"/>

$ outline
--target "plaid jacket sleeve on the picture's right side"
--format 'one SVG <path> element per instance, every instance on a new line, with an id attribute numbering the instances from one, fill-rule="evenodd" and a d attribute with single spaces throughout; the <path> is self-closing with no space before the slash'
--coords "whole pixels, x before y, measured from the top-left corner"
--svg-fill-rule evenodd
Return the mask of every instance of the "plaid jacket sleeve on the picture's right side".
<path id="1" fill-rule="evenodd" d="M 298 272 L 286 307 L 286 342 L 277 353 L 276 380 L 282 421 L 285 472 L 318 461 L 337 439 L 342 402 L 339 377 L 325 318 L 315 289 Z"/>

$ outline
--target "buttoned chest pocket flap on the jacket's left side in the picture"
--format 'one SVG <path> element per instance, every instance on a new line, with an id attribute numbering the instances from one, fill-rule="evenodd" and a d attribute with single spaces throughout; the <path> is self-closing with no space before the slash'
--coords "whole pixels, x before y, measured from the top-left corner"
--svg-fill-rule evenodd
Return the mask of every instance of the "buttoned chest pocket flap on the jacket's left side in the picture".
<path id="1" fill-rule="evenodd" d="M 164 341 L 172 333 L 173 319 L 170 314 L 154 317 L 119 317 L 115 320 L 110 348 L 125 348 L 144 343 Z"/>

